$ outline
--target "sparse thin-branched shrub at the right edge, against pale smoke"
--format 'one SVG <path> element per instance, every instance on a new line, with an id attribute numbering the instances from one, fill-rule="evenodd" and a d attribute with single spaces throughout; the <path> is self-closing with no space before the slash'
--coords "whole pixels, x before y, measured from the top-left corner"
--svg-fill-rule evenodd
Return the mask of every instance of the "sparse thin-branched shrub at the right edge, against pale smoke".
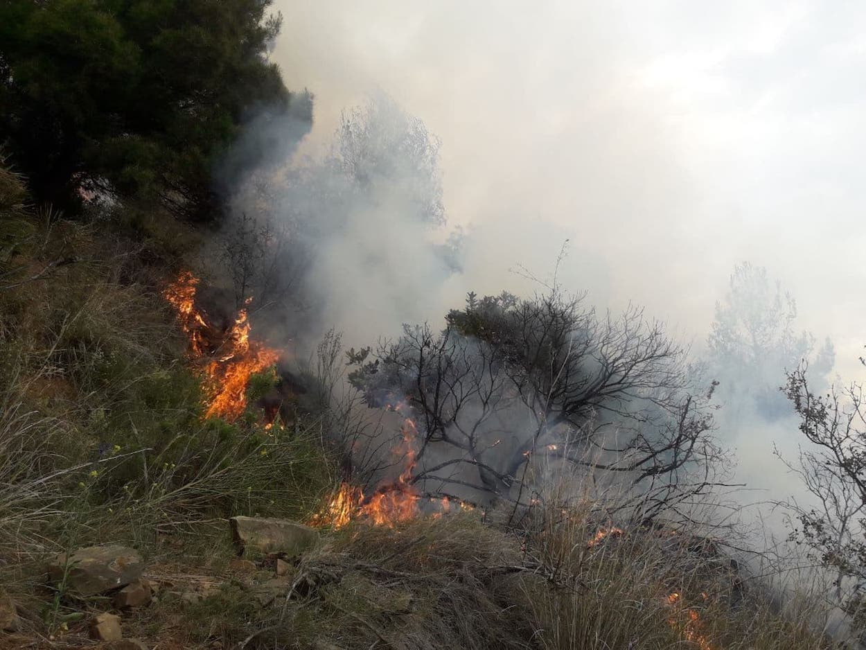
<path id="1" fill-rule="evenodd" d="M 866 402 L 863 387 L 812 385 L 805 364 L 787 374 L 785 396 L 806 441 L 798 463 L 785 460 L 816 505 L 791 503 L 792 539 L 832 570 L 837 601 L 866 629 Z"/>

